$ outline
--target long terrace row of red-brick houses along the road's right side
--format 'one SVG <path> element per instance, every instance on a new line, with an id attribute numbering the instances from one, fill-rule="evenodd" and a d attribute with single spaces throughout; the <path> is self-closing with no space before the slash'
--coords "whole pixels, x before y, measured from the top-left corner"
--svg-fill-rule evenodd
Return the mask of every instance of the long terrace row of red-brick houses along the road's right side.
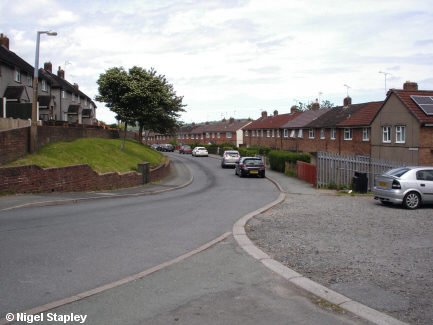
<path id="1" fill-rule="evenodd" d="M 268 146 L 279 150 L 313 153 L 326 151 L 350 156 L 369 156 L 413 165 L 433 166 L 433 91 L 418 90 L 406 82 L 403 89 L 389 90 L 379 102 L 279 114 L 266 111 L 255 121 L 229 121 L 190 125 L 176 134 L 145 134 L 148 143 L 202 144 L 232 142 L 236 146 Z"/>

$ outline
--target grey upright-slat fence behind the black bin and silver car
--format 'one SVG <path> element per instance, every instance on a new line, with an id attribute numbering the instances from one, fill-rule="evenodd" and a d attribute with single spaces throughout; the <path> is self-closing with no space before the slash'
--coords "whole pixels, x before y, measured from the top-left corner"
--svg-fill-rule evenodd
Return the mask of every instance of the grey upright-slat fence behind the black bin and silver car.
<path id="1" fill-rule="evenodd" d="M 385 161 L 366 156 L 346 156 L 319 151 L 317 153 L 316 187 L 337 186 L 352 187 L 355 172 L 365 173 L 368 177 L 368 188 L 374 186 L 374 178 L 385 171 L 405 166 L 403 162 Z"/>

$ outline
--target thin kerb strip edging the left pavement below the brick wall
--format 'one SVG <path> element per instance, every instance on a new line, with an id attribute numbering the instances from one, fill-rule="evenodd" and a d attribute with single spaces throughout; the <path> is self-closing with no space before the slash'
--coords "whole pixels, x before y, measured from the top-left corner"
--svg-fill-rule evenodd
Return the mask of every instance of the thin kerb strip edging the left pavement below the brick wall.
<path id="1" fill-rule="evenodd" d="M 33 208 L 33 207 L 44 207 L 44 206 L 54 206 L 54 205 L 62 205 L 62 204 L 71 204 L 71 203 L 79 203 L 79 202 L 85 202 L 85 201 L 95 201 L 95 200 L 104 200 L 107 198 L 110 199 L 119 199 L 119 198 L 125 198 L 125 197 L 134 197 L 134 196 L 144 196 L 144 195 L 158 195 L 165 192 L 170 192 L 174 190 L 179 190 L 181 188 L 184 188 L 192 183 L 194 180 L 194 175 L 192 174 L 191 168 L 188 165 L 185 165 L 188 167 L 190 172 L 190 179 L 185 184 L 168 188 L 165 190 L 155 191 L 155 192 L 146 192 L 146 193 L 134 193 L 134 194 L 114 194 L 109 197 L 106 196 L 94 196 L 94 197 L 88 197 L 88 198 L 78 198 L 78 199 L 65 199 L 65 200 L 55 200 L 55 201 L 45 201 L 45 202 L 35 202 L 35 203 L 26 203 L 17 205 L 14 207 L 1 209 L 0 211 L 7 211 L 7 210 L 14 210 L 14 209 L 20 209 L 20 208 Z M 1 323 L 0 323 L 1 325 Z"/>

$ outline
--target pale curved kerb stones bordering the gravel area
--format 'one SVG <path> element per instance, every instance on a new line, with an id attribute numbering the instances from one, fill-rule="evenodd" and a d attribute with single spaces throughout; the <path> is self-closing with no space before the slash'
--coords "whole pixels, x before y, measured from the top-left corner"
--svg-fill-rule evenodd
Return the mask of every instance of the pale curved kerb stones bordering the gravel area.
<path id="1" fill-rule="evenodd" d="M 276 185 L 276 187 L 280 190 L 281 192 L 280 196 L 278 197 L 277 200 L 266 205 L 265 207 L 260 208 L 256 211 L 253 211 L 243 216 L 234 224 L 232 233 L 238 245 L 241 246 L 245 252 L 247 252 L 255 259 L 259 260 L 263 265 L 268 267 L 270 270 L 281 275 L 282 277 L 284 277 L 291 283 L 295 284 L 296 286 L 308 291 L 309 293 L 319 298 L 325 299 L 326 301 L 329 301 L 330 303 L 337 305 L 360 318 L 368 320 L 376 325 L 409 325 L 408 323 L 402 322 L 394 317 L 391 317 L 373 308 L 367 307 L 361 303 L 353 301 L 352 299 L 343 296 L 342 294 L 336 291 L 328 289 L 322 286 L 321 284 L 318 284 L 304 277 L 303 275 L 297 273 L 296 271 L 272 259 L 269 255 L 267 255 L 260 248 L 254 245 L 254 243 L 248 238 L 245 232 L 245 226 L 248 220 L 250 220 L 254 216 L 266 210 L 269 210 L 273 206 L 281 203 L 282 201 L 284 201 L 286 197 L 286 193 L 282 190 L 281 186 L 275 180 L 269 177 L 267 177 L 267 179 L 273 182 Z"/>

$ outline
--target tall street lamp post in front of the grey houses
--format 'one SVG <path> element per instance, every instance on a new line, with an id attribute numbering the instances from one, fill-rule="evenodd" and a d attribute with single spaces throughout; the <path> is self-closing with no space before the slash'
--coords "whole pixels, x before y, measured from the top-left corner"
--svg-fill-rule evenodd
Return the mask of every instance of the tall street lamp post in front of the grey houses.
<path id="1" fill-rule="evenodd" d="M 33 103 L 32 103 L 32 125 L 30 126 L 30 153 L 37 151 L 37 132 L 38 132 L 38 79 L 39 79 L 39 43 L 41 34 L 57 36 L 56 32 L 38 31 L 36 36 L 35 70 L 33 74 Z"/>

